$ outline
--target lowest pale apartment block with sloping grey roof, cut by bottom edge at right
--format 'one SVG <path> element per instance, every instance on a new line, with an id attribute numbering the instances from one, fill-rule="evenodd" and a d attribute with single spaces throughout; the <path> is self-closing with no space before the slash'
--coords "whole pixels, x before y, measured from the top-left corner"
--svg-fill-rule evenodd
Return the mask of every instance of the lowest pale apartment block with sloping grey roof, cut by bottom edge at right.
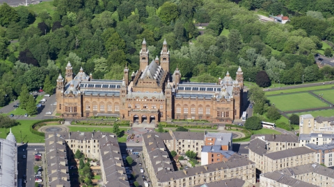
<path id="1" fill-rule="evenodd" d="M 260 187 L 315 187 L 314 184 L 309 184 L 299 179 L 294 179 L 289 175 L 284 175 L 280 172 L 266 172 L 260 175 Z"/>

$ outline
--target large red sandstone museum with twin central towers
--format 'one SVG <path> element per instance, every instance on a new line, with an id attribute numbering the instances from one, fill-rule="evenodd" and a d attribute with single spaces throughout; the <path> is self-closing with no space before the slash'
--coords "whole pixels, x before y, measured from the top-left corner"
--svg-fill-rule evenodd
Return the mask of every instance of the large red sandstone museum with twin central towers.
<path id="1" fill-rule="evenodd" d="M 241 68 L 235 80 L 226 73 L 218 83 L 181 82 L 181 72 L 170 71 L 170 53 L 164 41 L 160 59 L 150 62 L 143 40 L 140 68 L 122 80 L 95 80 L 80 69 L 74 76 L 68 62 L 65 78 L 58 76 L 56 112 L 63 118 L 118 116 L 131 124 L 203 119 L 231 123 L 241 116 L 244 78 Z"/>

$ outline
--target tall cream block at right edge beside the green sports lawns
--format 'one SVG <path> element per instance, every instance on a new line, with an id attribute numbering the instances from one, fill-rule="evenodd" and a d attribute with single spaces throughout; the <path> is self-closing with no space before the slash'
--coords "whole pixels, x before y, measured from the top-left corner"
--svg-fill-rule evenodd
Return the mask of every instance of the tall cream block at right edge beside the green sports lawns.
<path id="1" fill-rule="evenodd" d="M 334 132 L 334 116 L 313 117 L 311 114 L 299 116 L 299 134 L 332 134 Z"/>

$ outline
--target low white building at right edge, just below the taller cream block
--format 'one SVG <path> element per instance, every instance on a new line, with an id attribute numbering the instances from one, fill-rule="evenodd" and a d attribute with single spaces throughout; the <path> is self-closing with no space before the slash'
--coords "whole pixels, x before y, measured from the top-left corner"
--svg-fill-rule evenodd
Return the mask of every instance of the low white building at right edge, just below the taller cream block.
<path id="1" fill-rule="evenodd" d="M 311 133 L 311 134 L 299 134 L 299 146 L 302 147 L 308 143 L 314 143 L 315 145 L 325 145 L 333 143 L 334 134 L 323 133 Z"/>

